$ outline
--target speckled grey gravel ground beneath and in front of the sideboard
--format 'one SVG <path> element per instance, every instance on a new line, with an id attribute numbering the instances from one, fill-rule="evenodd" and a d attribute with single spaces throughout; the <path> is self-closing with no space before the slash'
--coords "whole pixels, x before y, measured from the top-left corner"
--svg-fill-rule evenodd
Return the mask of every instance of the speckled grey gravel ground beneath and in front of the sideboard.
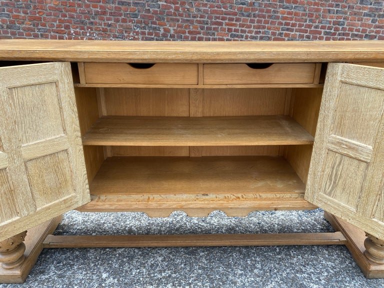
<path id="1" fill-rule="evenodd" d="M 55 234 L 327 232 L 322 210 L 64 215 Z M 5 287 L 384 287 L 366 279 L 343 245 L 44 249 L 24 284 Z"/>

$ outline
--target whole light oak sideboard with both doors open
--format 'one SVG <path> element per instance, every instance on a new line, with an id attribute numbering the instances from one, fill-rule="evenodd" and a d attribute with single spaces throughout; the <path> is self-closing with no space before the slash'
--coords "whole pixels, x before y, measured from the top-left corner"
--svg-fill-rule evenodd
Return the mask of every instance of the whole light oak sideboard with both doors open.
<path id="1" fill-rule="evenodd" d="M 346 244 L 384 276 L 383 41 L 0 40 L 0 60 L 0 282 L 85 246 Z M 70 209 L 317 206 L 337 232 L 51 235 Z"/>

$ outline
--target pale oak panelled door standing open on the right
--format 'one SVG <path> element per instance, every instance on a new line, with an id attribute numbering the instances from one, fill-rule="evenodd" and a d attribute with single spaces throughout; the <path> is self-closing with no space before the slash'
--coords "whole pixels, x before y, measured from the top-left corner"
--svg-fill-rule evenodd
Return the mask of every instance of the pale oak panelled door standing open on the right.
<path id="1" fill-rule="evenodd" d="M 305 199 L 384 239 L 384 69 L 330 63 Z"/>

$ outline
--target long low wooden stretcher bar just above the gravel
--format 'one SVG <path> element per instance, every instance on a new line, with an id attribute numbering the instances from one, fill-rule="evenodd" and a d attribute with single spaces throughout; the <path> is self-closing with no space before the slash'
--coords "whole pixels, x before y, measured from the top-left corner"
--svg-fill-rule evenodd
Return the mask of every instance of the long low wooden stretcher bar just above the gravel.
<path id="1" fill-rule="evenodd" d="M 341 232 L 202 235 L 48 235 L 46 248 L 342 245 Z"/>

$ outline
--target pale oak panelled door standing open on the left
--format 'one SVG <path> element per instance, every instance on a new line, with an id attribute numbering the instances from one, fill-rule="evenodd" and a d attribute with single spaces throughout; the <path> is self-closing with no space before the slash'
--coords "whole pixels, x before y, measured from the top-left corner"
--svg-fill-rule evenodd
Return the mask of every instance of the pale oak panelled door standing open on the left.
<path id="1" fill-rule="evenodd" d="M 70 64 L 0 68 L 0 240 L 88 201 Z"/>

